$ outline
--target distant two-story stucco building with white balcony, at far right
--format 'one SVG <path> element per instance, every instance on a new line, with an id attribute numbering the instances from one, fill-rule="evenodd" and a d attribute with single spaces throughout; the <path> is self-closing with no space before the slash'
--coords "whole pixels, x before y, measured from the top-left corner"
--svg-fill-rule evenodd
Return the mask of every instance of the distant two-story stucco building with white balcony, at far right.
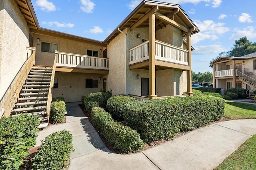
<path id="1" fill-rule="evenodd" d="M 256 53 L 242 57 L 219 57 L 210 63 L 213 68 L 213 86 L 222 88 L 244 88 L 254 97 L 256 90 Z"/>

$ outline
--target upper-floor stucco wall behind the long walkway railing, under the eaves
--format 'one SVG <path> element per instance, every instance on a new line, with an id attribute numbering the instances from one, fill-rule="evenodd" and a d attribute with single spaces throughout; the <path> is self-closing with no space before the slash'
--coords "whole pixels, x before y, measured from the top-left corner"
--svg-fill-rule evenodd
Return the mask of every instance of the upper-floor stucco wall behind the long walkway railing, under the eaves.
<path id="1" fill-rule="evenodd" d="M 50 37 L 35 33 L 32 33 L 31 35 L 34 38 L 33 43 L 36 47 L 36 65 L 52 66 L 54 62 L 54 53 L 41 52 L 42 42 L 58 44 L 58 51 L 65 53 L 86 55 L 87 49 L 99 51 L 99 57 L 103 57 L 103 50 L 106 49 L 106 47 L 101 47 L 90 43 L 83 43 L 80 41 L 73 41 L 64 38 Z M 40 42 L 37 42 L 38 38 L 40 39 Z M 101 53 L 100 49 L 102 50 Z"/>

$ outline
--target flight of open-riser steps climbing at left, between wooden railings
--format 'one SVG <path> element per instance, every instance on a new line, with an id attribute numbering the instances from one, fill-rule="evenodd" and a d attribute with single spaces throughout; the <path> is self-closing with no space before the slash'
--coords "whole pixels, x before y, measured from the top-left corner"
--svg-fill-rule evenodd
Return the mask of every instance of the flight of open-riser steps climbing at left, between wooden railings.
<path id="1" fill-rule="evenodd" d="M 46 109 L 50 82 L 52 79 L 52 70 L 53 68 L 50 67 L 32 67 L 28 74 L 28 78 L 22 86 L 20 97 L 12 110 L 12 115 L 20 113 L 39 115 L 41 122 L 39 128 L 48 125 L 49 114 L 47 114 Z"/>

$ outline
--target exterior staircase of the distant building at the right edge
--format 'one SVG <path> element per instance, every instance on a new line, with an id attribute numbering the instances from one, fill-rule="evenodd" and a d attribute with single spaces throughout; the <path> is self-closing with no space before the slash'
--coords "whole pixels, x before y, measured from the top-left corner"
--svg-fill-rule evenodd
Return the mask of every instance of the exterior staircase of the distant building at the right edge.
<path id="1" fill-rule="evenodd" d="M 238 78 L 248 84 L 251 88 L 246 91 L 246 94 L 249 96 L 249 99 L 254 99 L 254 92 L 253 89 L 256 87 L 256 79 L 237 71 Z"/>

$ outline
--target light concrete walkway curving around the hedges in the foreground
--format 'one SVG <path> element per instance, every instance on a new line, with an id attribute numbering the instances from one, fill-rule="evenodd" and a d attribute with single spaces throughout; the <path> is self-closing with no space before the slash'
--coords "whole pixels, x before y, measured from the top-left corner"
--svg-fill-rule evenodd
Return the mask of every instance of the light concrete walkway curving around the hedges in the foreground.
<path id="1" fill-rule="evenodd" d="M 84 116 L 79 103 L 68 103 L 66 123 L 40 131 L 37 145 L 54 131 L 69 130 L 75 152 L 69 170 L 211 170 L 256 134 L 256 119 L 232 120 L 196 129 L 173 141 L 136 154 L 114 154 Z"/>

